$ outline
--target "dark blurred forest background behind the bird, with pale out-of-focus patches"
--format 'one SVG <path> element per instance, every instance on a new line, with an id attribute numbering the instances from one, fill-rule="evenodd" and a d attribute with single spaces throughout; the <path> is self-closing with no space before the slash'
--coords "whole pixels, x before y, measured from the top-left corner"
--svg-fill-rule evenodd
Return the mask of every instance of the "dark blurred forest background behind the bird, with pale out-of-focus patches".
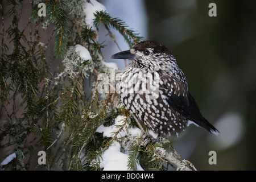
<path id="1" fill-rule="evenodd" d="M 146 40 L 171 49 L 201 112 L 220 131 L 211 136 L 189 126 L 172 139 L 182 158 L 199 170 L 255 170 L 256 1 L 100 2 Z M 216 17 L 208 15 L 210 3 L 216 3 Z M 116 36 L 122 50 L 129 49 Z M 118 51 L 108 46 L 105 57 Z M 122 61 L 109 61 L 124 68 Z M 210 151 L 216 151 L 216 165 L 208 163 Z"/>

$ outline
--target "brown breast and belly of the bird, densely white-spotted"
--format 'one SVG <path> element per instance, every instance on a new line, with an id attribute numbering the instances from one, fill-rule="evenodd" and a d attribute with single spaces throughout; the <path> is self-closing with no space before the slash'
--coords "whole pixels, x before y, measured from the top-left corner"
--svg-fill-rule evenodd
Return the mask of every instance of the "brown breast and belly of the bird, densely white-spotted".
<path id="1" fill-rule="evenodd" d="M 144 72 L 126 69 L 119 82 L 119 95 L 130 113 L 135 114 L 153 131 L 165 135 L 177 135 L 187 122 L 168 104 L 163 86 L 167 79 L 161 79 L 158 72 Z"/>

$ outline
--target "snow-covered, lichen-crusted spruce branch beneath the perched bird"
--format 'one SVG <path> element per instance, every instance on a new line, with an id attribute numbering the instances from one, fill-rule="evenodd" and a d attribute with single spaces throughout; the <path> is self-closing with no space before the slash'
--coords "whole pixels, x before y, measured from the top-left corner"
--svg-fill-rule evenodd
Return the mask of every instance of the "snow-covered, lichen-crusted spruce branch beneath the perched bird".
<path id="1" fill-rule="evenodd" d="M 143 147 L 145 145 L 143 136 L 148 135 L 148 133 L 146 133 L 146 131 L 143 129 L 143 127 L 141 126 L 141 123 L 138 121 L 135 115 L 133 114 L 131 115 L 137 122 L 139 128 L 127 126 L 129 123 L 127 122 L 127 117 L 118 115 L 114 119 L 113 125 L 111 126 L 101 125 L 96 130 L 97 132 L 102 133 L 103 137 L 113 138 L 111 140 L 113 143 L 109 146 L 108 149 L 106 149 L 103 152 L 103 154 L 101 155 L 102 156 L 101 160 L 98 161 L 100 163 L 100 167 L 104 168 L 104 170 L 118 170 L 118 169 L 127 170 L 127 167 L 129 167 L 129 161 L 127 160 L 128 156 L 130 155 L 129 149 L 133 146 Z M 152 131 L 149 131 L 149 132 L 151 135 L 154 136 L 154 138 L 157 137 L 157 135 L 154 135 Z M 162 167 L 164 163 L 170 163 L 176 166 L 176 170 L 186 170 L 186 171 L 196 170 L 196 168 L 193 166 L 191 162 L 189 162 L 188 160 L 181 159 L 181 156 L 174 150 L 169 140 L 162 138 L 162 143 L 167 143 L 170 146 L 172 152 L 167 152 L 167 150 L 165 150 L 162 147 L 162 144 L 158 144 L 158 146 L 149 145 L 146 148 L 144 148 L 144 151 L 151 150 L 151 152 L 154 153 L 155 159 L 162 160 L 162 164 L 160 164 L 160 167 Z M 125 154 L 128 154 L 128 156 L 123 155 L 124 153 L 122 153 L 120 150 L 121 147 L 123 148 L 123 152 Z M 113 155 L 112 152 L 117 154 Z M 118 156 L 118 157 L 115 158 L 115 156 Z M 135 169 L 143 170 L 143 167 L 141 167 L 141 165 L 139 164 L 139 159 L 137 157 L 134 159 L 136 160 Z"/>

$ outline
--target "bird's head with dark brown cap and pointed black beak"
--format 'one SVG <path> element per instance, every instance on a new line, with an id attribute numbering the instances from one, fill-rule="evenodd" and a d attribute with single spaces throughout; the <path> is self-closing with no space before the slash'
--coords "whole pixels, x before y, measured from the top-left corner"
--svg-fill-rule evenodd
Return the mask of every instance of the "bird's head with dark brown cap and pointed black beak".
<path id="1" fill-rule="evenodd" d="M 129 59 L 130 67 L 158 71 L 176 64 L 170 49 L 154 41 L 143 41 L 127 51 L 115 53 L 112 59 Z"/>

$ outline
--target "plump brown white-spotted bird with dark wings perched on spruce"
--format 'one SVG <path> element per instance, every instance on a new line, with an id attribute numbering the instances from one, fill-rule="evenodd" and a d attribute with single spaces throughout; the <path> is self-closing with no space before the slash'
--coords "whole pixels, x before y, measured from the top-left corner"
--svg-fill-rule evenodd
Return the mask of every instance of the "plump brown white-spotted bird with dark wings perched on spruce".
<path id="1" fill-rule="evenodd" d="M 179 137 L 191 123 L 219 133 L 201 114 L 168 47 L 146 40 L 111 58 L 130 60 L 118 85 L 121 102 L 155 134 Z"/>

